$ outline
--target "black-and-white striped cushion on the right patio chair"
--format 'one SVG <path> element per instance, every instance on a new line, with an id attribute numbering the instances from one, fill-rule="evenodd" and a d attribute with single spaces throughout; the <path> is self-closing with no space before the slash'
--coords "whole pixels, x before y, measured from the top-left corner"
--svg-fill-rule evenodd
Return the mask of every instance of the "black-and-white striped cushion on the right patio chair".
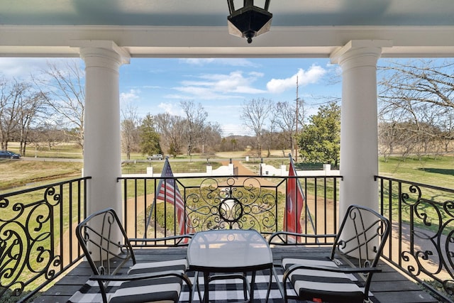
<path id="1" fill-rule="evenodd" d="M 294 264 L 310 266 L 333 266 L 336 263 L 325 258 L 316 259 L 282 259 L 282 267 L 287 270 Z M 327 272 L 322 270 L 295 270 L 289 276 L 290 282 L 299 299 L 314 302 L 363 302 L 364 290 L 357 285 L 355 275 L 343 272 Z"/>

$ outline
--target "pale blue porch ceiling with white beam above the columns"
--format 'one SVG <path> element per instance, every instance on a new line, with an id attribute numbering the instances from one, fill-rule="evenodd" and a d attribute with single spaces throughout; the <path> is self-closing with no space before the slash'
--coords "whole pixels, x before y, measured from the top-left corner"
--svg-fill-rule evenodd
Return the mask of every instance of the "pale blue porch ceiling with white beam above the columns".
<path id="1" fill-rule="evenodd" d="M 328 57 L 349 40 L 390 40 L 383 57 L 454 57 L 452 0 L 272 0 L 270 11 L 270 33 L 248 45 L 227 32 L 226 0 L 0 0 L 0 56 L 77 57 L 79 40 L 113 40 L 131 57 Z"/>

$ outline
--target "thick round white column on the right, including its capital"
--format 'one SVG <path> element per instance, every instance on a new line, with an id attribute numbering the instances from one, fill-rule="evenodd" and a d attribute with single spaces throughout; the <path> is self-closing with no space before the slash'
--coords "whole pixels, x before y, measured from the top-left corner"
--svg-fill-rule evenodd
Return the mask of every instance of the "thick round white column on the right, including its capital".
<path id="1" fill-rule="evenodd" d="M 352 40 L 331 55 L 342 68 L 339 215 L 348 205 L 378 209 L 377 60 L 388 40 Z"/>

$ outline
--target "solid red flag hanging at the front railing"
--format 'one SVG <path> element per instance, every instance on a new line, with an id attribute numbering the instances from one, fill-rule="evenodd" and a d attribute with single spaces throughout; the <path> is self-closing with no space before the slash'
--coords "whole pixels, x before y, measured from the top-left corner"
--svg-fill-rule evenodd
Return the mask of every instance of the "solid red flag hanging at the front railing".
<path id="1" fill-rule="evenodd" d="M 289 177 L 296 176 L 293 161 L 290 160 Z M 297 178 L 289 178 L 287 181 L 286 211 L 284 212 L 284 231 L 301 233 L 301 211 L 303 209 L 304 195 Z"/>

